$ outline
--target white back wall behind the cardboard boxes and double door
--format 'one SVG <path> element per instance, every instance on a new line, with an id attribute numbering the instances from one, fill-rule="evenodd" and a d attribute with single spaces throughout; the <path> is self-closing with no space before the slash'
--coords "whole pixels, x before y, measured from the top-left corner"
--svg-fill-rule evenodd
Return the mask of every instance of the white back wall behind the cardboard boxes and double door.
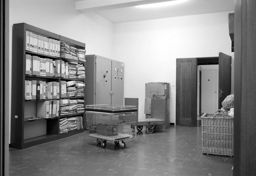
<path id="1" fill-rule="evenodd" d="M 125 98 L 139 98 L 139 120 L 145 118 L 145 83 L 169 82 L 175 123 L 176 58 L 233 55 L 228 13 L 115 24 L 114 59 L 125 63 Z"/>

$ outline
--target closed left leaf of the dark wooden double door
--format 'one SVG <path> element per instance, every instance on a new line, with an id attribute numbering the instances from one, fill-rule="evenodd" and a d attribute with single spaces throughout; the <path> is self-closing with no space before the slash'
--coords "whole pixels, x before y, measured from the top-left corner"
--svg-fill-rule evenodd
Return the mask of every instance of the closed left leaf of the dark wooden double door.
<path id="1" fill-rule="evenodd" d="M 176 125 L 196 126 L 197 59 L 176 59 Z"/>

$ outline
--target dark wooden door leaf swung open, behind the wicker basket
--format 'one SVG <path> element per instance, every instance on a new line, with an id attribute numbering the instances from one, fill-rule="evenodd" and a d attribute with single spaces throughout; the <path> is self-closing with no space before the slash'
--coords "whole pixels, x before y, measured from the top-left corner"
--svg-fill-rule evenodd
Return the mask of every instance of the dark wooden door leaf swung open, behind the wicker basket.
<path id="1" fill-rule="evenodd" d="M 219 53 L 219 109 L 221 102 L 231 94 L 231 56 Z"/>

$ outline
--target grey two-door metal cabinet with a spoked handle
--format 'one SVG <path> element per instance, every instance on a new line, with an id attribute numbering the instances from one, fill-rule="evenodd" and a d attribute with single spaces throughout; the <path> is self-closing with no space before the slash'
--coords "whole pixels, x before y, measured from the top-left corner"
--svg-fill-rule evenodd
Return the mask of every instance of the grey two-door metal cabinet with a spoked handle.
<path id="1" fill-rule="evenodd" d="M 98 55 L 85 59 L 85 104 L 123 105 L 124 64 Z"/>

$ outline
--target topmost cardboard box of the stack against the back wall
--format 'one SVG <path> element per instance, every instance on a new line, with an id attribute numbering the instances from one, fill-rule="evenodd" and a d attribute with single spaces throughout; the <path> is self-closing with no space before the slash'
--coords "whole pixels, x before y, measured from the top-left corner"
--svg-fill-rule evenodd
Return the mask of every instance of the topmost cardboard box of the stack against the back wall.
<path id="1" fill-rule="evenodd" d="M 146 83 L 145 98 L 152 98 L 152 95 L 166 95 L 170 98 L 170 83 Z"/>

